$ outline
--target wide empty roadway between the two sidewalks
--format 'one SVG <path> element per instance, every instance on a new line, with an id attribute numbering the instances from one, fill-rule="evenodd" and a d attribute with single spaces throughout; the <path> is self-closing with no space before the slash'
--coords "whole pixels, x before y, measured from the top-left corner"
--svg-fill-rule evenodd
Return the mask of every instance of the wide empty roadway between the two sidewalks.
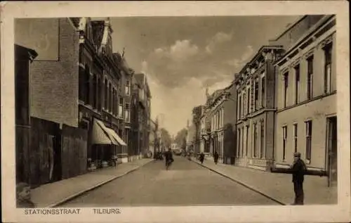
<path id="1" fill-rule="evenodd" d="M 61 207 L 145 205 L 279 205 L 185 158 L 170 170 L 155 161 Z"/>

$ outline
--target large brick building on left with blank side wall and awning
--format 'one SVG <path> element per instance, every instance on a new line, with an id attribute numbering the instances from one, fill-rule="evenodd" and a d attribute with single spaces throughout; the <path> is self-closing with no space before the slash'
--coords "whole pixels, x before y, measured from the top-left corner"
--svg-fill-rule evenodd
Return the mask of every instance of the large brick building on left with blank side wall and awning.
<path id="1" fill-rule="evenodd" d="M 88 132 L 89 167 L 126 157 L 117 102 L 121 68 L 112 54 L 110 20 L 33 18 L 16 21 L 16 42 L 41 56 L 31 69 L 31 114 Z"/>

